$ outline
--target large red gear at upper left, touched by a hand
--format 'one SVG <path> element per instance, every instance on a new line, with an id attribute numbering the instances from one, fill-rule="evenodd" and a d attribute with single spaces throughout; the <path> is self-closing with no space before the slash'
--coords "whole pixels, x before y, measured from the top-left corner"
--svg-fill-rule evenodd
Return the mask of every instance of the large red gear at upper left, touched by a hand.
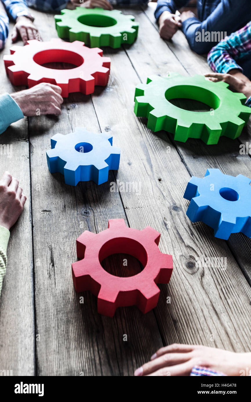
<path id="1" fill-rule="evenodd" d="M 51 39 L 40 42 L 28 41 L 27 46 L 12 46 L 10 55 L 4 56 L 6 73 L 13 85 L 27 85 L 31 88 L 40 82 L 49 82 L 60 86 L 62 96 L 69 92 L 91 94 L 95 85 L 105 86 L 110 73 L 110 57 L 102 57 L 98 47 L 89 49 L 83 42 L 64 42 Z M 77 67 L 68 70 L 56 70 L 43 67 L 49 62 L 72 63 Z"/>

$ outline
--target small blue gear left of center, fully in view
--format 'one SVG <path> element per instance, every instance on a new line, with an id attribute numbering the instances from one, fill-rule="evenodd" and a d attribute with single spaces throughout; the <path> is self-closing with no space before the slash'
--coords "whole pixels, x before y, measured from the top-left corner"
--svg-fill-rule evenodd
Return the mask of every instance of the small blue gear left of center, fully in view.
<path id="1" fill-rule="evenodd" d="M 120 148 L 112 146 L 108 134 L 94 134 L 76 127 L 74 133 L 55 134 L 51 146 L 46 151 L 48 168 L 51 173 L 64 174 L 65 183 L 71 186 L 89 180 L 105 183 L 109 170 L 117 170 L 119 166 Z"/>

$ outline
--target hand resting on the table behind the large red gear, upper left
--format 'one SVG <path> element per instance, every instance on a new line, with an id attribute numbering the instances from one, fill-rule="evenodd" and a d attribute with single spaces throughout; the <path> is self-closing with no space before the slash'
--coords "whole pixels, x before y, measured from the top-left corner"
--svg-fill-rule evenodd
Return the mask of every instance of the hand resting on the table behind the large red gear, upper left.
<path id="1" fill-rule="evenodd" d="M 24 45 L 27 45 L 29 39 L 41 40 L 38 29 L 35 27 L 33 22 L 24 15 L 21 15 L 16 19 L 16 24 L 11 34 L 12 43 L 17 41 L 18 35 L 21 36 Z"/>

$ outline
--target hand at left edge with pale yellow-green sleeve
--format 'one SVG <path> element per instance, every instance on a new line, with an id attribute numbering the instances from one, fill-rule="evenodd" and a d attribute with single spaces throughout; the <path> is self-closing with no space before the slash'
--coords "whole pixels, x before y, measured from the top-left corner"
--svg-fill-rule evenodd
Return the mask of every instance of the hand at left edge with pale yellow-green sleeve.
<path id="1" fill-rule="evenodd" d="M 10 230 L 23 211 L 26 199 L 19 181 L 9 172 L 4 172 L 0 179 L 0 226 Z"/>

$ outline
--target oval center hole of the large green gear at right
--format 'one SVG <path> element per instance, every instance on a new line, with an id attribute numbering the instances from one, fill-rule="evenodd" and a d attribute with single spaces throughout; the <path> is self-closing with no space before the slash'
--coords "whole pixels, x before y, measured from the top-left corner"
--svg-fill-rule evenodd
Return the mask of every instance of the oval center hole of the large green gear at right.
<path id="1" fill-rule="evenodd" d="M 193 112 L 208 112 L 220 106 L 220 98 L 216 94 L 194 85 L 172 86 L 166 90 L 165 97 L 172 105 Z"/>

